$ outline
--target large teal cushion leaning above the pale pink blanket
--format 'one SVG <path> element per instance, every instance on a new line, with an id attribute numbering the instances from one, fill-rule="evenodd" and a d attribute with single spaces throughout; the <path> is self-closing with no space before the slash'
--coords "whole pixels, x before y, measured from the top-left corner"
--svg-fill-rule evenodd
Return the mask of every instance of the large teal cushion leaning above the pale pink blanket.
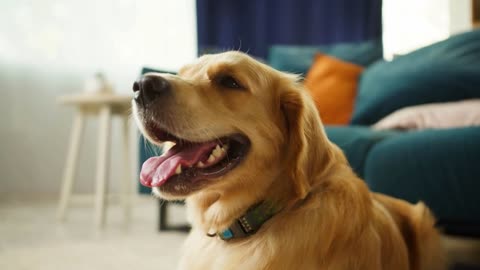
<path id="1" fill-rule="evenodd" d="M 360 79 L 351 123 L 371 125 L 412 105 L 480 97 L 480 30 L 378 61 Z"/>

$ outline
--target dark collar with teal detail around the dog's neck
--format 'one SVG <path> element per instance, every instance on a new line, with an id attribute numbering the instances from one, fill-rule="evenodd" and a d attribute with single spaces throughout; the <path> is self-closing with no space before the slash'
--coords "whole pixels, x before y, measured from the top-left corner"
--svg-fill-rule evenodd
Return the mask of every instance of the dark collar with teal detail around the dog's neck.
<path id="1" fill-rule="evenodd" d="M 225 241 L 248 237 L 255 234 L 267 220 L 278 212 L 278 210 L 279 209 L 274 207 L 271 203 L 261 202 L 248 209 L 247 212 L 236 219 L 228 229 L 223 232 L 207 235 L 218 235 L 220 239 Z"/>

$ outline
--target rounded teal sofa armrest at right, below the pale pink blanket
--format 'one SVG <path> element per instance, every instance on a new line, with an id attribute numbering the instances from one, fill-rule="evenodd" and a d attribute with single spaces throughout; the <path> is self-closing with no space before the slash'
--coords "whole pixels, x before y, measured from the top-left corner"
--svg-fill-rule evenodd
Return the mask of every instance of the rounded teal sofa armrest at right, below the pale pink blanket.
<path id="1" fill-rule="evenodd" d="M 376 144 L 365 164 L 373 191 L 422 200 L 442 221 L 480 222 L 480 127 L 409 132 Z"/>

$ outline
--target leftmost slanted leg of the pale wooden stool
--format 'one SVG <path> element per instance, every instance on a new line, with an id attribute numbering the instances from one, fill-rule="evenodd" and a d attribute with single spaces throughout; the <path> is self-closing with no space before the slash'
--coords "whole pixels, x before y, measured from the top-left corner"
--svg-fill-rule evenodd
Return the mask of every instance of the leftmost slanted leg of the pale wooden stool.
<path id="1" fill-rule="evenodd" d="M 78 150 L 80 149 L 83 128 L 85 124 L 84 113 L 79 110 L 75 119 L 73 120 L 72 133 L 70 135 L 70 145 L 68 148 L 67 162 L 65 164 L 65 171 L 63 172 L 62 189 L 60 191 L 60 200 L 58 202 L 57 218 L 64 221 L 66 211 L 70 202 L 70 196 L 73 189 L 73 181 L 76 172 Z"/>

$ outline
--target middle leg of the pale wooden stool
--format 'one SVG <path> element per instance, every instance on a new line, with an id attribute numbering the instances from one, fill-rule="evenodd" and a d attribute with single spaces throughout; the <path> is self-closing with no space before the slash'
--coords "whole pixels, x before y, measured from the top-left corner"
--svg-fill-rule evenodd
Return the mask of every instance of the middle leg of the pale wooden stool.
<path id="1" fill-rule="evenodd" d="M 109 106 L 100 109 L 95 188 L 95 225 L 98 229 L 105 225 L 111 116 L 112 112 Z"/>

